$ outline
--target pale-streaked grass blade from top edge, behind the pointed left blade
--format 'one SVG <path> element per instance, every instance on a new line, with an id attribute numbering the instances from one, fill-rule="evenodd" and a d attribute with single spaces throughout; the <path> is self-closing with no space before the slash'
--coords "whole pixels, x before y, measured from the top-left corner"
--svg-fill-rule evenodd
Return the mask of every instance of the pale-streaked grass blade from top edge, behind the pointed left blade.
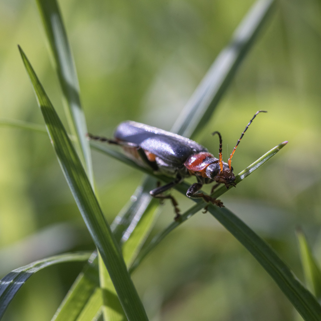
<path id="1" fill-rule="evenodd" d="M 81 107 L 79 83 L 74 65 L 74 59 L 69 46 L 67 33 L 56 0 L 37 0 L 39 12 L 42 18 L 51 52 L 56 64 L 56 72 L 64 94 L 67 119 L 72 134 L 78 139 L 76 147 L 80 152 L 80 158 L 85 161 L 91 184 L 93 173 L 91 165 L 90 147 L 86 137 L 87 125 Z"/>

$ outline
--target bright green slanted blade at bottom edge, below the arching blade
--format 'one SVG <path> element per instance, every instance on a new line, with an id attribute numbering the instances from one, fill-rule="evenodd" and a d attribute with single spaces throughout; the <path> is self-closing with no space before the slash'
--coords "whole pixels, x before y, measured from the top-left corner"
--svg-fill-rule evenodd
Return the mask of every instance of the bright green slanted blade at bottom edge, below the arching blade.
<path id="1" fill-rule="evenodd" d="M 94 252 L 68 291 L 65 299 L 61 302 L 51 321 L 77 320 L 83 308 L 91 301 L 91 297 L 98 286 L 98 258 L 97 252 Z"/>

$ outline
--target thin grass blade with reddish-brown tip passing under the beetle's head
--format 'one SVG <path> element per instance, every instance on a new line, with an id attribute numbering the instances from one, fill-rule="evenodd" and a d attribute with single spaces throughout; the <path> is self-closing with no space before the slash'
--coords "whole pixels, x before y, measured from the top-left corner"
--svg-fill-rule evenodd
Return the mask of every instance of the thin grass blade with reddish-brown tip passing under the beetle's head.
<path id="1" fill-rule="evenodd" d="M 258 160 L 256 160 L 253 164 L 248 166 L 246 169 L 241 171 L 235 179 L 236 184 L 240 183 L 243 179 L 247 178 L 251 173 L 253 173 L 256 169 L 261 167 L 264 163 L 266 163 L 271 157 L 273 157 L 277 152 L 280 151 L 281 148 L 283 148 L 288 142 L 283 142 L 274 148 L 272 148 L 270 151 L 265 153 L 262 157 L 260 157 Z M 217 198 L 228 191 L 224 185 L 222 185 L 223 188 L 217 188 L 216 191 L 211 195 L 214 198 Z M 186 187 L 179 185 L 177 189 L 183 193 L 186 194 Z M 133 264 L 129 268 L 129 273 L 132 273 L 137 266 L 143 261 L 143 259 L 160 243 L 162 239 L 164 239 L 172 230 L 174 230 L 176 227 L 178 227 L 180 224 L 185 222 L 187 219 L 189 219 L 192 215 L 200 211 L 202 208 L 206 206 L 206 203 L 203 200 L 197 199 L 197 198 L 191 198 L 194 202 L 197 204 L 192 206 L 190 209 L 188 209 L 185 213 L 181 215 L 181 218 L 179 221 L 174 221 L 169 224 L 167 228 L 165 228 L 162 232 L 155 235 L 155 237 L 151 240 L 151 242 L 143 248 L 143 250 L 138 254 L 138 256 L 135 258 Z"/>

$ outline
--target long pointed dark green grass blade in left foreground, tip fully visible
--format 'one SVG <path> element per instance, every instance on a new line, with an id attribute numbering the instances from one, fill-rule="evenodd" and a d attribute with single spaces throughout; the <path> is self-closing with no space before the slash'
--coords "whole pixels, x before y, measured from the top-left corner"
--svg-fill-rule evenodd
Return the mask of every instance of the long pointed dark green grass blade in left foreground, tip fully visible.
<path id="1" fill-rule="evenodd" d="M 34 87 L 36 98 L 45 119 L 48 134 L 65 178 L 76 200 L 95 245 L 107 267 L 110 278 L 129 321 L 148 320 L 143 304 L 116 244 L 110 227 L 100 209 L 87 175 L 55 109 L 34 73 L 27 57 L 19 47 L 23 63 Z"/>

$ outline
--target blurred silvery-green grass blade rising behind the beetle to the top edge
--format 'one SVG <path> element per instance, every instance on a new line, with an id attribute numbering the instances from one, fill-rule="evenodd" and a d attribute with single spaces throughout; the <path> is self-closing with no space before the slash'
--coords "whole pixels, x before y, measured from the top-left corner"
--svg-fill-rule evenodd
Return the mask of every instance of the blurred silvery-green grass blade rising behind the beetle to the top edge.
<path id="1" fill-rule="evenodd" d="M 239 65 L 273 9 L 274 0 L 258 0 L 234 32 L 176 120 L 172 131 L 194 137 L 211 118 Z"/>

